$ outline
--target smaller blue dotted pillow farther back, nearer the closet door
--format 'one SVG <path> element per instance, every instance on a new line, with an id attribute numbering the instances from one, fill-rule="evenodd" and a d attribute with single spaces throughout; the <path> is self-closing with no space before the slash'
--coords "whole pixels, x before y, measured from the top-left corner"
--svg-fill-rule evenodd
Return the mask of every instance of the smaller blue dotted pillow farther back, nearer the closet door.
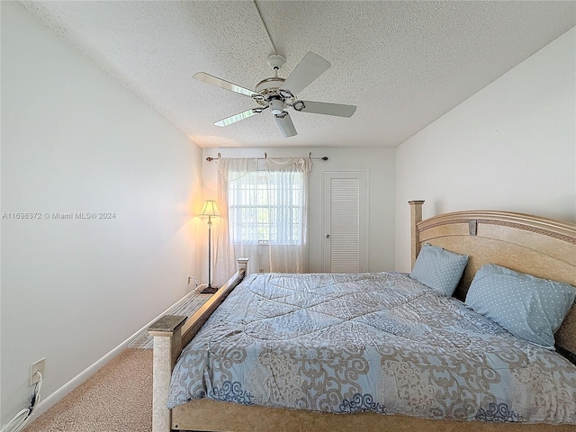
<path id="1" fill-rule="evenodd" d="M 467 255 L 455 254 L 442 247 L 424 245 L 416 258 L 410 277 L 449 297 L 458 286 L 467 263 Z"/>

